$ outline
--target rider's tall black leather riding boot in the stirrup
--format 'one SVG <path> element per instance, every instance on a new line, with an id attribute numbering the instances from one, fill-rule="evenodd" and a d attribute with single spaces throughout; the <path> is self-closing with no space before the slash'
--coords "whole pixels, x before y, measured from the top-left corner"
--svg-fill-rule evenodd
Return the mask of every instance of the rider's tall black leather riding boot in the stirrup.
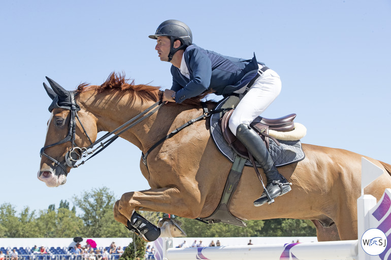
<path id="1" fill-rule="evenodd" d="M 270 200 L 264 191 L 259 199 L 254 201 L 254 206 L 261 206 L 268 202 L 274 202 L 274 198 L 281 196 L 291 190 L 290 184 L 280 173 L 269 154 L 262 138 L 248 125 L 240 124 L 236 130 L 236 137 L 246 146 L 248 152 L 262 166 L 266 177 L 266 190 L 269 192 Z"/>

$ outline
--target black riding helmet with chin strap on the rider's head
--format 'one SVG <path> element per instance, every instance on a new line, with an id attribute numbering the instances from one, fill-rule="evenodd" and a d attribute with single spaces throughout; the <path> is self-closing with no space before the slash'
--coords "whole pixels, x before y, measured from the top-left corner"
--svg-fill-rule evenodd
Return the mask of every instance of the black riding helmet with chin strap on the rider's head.
<path id="1" fill-rule="evenodd" d="M 151 39 L 157 39 L 158 36 L 167 36 L 171 41 L 169 61 L 172 60 L 174 54 L 192 44 L 193 36 L 189 26 L 178 20 L 167 20 L 162 22 L 156 29 L 155 34 L 149 35 Z M 177 49 L 174 48 L 174 42 L 179 40 L 182 44 Z"/>

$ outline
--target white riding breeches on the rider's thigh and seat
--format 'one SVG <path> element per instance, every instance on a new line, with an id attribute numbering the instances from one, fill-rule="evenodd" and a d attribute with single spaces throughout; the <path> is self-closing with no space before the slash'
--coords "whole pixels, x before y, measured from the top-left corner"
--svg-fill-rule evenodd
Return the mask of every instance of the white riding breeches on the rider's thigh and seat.
<path id="1" fill-rule="evenodd" d="M 262 68 L 262 65 L 260 66 Z M 243 93 L 243 87 L 238 93 Z M 266 70 L 255 80 L 248 92 L 240 100 L 230 118 L 229 127 L 234 135 L 240 124 L 249 125 L 276 99 L 281 92 L 280 76 L 272 70 Z"/>

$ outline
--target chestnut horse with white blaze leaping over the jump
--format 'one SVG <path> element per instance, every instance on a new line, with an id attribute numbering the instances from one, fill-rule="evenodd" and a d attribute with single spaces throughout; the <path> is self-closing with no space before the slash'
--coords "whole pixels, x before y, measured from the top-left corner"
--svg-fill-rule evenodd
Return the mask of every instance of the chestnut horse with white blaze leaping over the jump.
<path id="1" fill-rule="evenodd" d="M 38 171 L 38 178 L 49 187 L 66 182 L 75 161 L 80 159 L 85 147 L 96 140 L 98 132 L 116 130 L 130 118 L 145 114 L 162 95 L 159 87 L 135 85 L 116 73 L 100 86 L 81 84 L 72 92 L 52 80 L 49 83 L 54 93 L 44 85 L 53 103 L 45 147 L 41 150 L 41 155 L 45 156 L 41 158 Z M 70 95 L 72 93 L 75 94 Z M 70 110 L 64 105 L 77 109 Z M 208 101 L 206 105 L 213 109 L 216 103 Z M 203 111 L 199 99 L 163 104 L 140 123 L 121 131 L 119 136 L 145 154 L 168 133 L 199 117 Z M 114 205 L 114 218 L 126 226 L 135 210 L 166 212 L 186 218 L 211 215 L 222 196 L 232 163 L 217 150 L 208 122 L 194 122 L 155 146 L 146 164 L 140 160 L 141 173 L 151 189 L 123 194 Z M 243 220 L 310 219 L 318 241 L 357 239 L 356 200 L 361 196 L 363 156 L 304 143 L 302 148 L 306 155 L 304 160 L 278 168 L 292 183 L 291 192 L 276 198 L 270 205 L 255 207 L 253 201 L 262 194 L 262 185 L 254 169 L 244 167 L 230 201 L 230 212 Z M 391 188 L 391 165 L 365 158 L 383 169 L 383 174 L 365 188 L 365 194 L 379 200 L 384 190 Z"/>

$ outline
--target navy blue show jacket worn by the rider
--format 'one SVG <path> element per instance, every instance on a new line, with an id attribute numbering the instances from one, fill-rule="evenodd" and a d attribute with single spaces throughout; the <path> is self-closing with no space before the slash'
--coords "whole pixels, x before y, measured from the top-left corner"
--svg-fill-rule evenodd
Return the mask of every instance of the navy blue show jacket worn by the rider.
<path id="1" fill-rule="evenodd" d="M 183 55 L 190 79 L 183 76 L 179 68 L 171 66 L 171 89 L 176 92 L 177 103 L 207 90 L 213 90 L 216 95 L 229 95 L 244 87 L 258 71 L 255 54 L 252 59 L 245 60 L 223 56 L 193 44 L 186 48 Z"/>

